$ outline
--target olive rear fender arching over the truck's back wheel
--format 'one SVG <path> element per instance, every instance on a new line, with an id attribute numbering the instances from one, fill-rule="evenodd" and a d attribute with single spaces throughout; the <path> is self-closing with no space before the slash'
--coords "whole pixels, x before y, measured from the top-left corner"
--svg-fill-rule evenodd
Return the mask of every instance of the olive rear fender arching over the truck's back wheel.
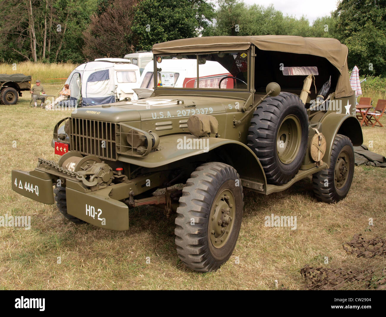
<path id="1" fill-rule="evenodd" d="M 341 113 L 330 113 L 321 120 L 323 126 L 323 135 L 327 141 L 325 158 L 331 157 L 332 145 L 335 135 L 343 134 L 350 138 L 353 146 L 360 146 L 363 143 L 362 128 L 358 119 L 352 115 L 344 115 Z M 326 156 L 326 154 L 328 154 Z M 327 162 L 328 161 L 328 162 Z M 326 160 L 328 168 L 330 160 Z"/>

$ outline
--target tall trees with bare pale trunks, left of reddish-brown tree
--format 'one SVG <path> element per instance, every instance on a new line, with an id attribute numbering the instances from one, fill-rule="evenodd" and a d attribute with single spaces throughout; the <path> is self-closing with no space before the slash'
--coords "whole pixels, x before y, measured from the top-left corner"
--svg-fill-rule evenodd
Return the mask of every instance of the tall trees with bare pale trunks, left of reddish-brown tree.
<path id="1" fill-rule="evenodd" d="M 0 58 L 20 60 L 83 60 L 81 32 L 96 0 L 12 0 L 0 2 Z M 71 45 L 68 45 L 71 43 Z"/>

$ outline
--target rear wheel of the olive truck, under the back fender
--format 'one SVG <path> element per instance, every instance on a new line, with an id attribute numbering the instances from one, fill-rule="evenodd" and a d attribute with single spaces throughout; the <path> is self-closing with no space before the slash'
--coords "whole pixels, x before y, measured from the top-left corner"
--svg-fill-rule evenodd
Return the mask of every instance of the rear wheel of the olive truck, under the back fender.
<path id="1" fill-rule="evenodd" d="M 337 134 L 331 151 L 330 168 L 312 175 L 315 196 L 334 203 L 348 194 L 354 176 L 354 149 L 348 137 Z"/>

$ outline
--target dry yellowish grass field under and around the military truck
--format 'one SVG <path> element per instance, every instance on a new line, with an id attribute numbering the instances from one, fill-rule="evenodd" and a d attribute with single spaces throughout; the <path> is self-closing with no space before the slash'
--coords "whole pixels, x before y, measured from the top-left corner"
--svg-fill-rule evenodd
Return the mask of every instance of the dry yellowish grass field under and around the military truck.
<path id="1" fill-rule="evenodd" d="M 52 78 L 65 77 L 56 76 Z M 47 93 L 60 88 L 49 87 Z M 15 106 L 0 106 L 0 215 L 31 216 L 30 230 L 0 227 L 0 289 L 273 290 L 278 280 L 279 288 L 301 290 L 305 282 L 300 269 L 306 264 L 351 270 L 384 267 L 384 258 L 358 259 L 342 248 L 356 233 L 385 238 L 386 169 L 368 166 L 355 168 L 349 194 L 334 205 L 313 197 L 310 178 L 268 196 L 244 190 L 244 216 L 234 253 L 218 271 L 207 274 L 192 272 L 179 261 L 175 215 L 166 218 L 155 207 L 130 209 L 130 230 L 124 232 L 70 223 L 55 205 L 11 190 L 12 169 L 33 170 L 39 157 L 57 161 L 50 146 L 52 129 L 69 115 L 29 108 L 29 100 L 25 94 Z M 364 144 L 372 141 L 371 150 L 386 156 L 385 128 L 364 127 L 363 134 Z M 297 229 L 264 226 L 264 217 L 272 213 L 297 216 Z M 374 226 L 365 231 L 369 218 Z M 347 283 L 344 288 L 364 285 Z"/>

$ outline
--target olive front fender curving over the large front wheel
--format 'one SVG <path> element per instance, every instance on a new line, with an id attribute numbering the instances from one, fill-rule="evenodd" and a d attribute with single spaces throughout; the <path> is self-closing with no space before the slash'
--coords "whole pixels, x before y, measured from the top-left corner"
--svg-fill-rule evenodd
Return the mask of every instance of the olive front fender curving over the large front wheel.
<path id="1" fill-rule="evenodd" d="M 201 138 L 207 140 L 205 149 L 178 149 L 177 144 L 189 139 L 198 140 L 200 138 L 190 134 L 171 134 L 159 138 L 158 151 L 152 151 L 147 156 L 136 158 L 120 155 L 118 161 L 135 164 L 146 168 L 156 168 L 176 161 L 180 161 L 191 156 L 217 154 L 225 158 L 225 161 L 233 166 L 240 178 L 250 179 L 252 182 L 267 184 L 264 170 L 257 156 L 245 144 L 220 138 Z M 251 168 L 254 166 L 254 168 Z"/>

